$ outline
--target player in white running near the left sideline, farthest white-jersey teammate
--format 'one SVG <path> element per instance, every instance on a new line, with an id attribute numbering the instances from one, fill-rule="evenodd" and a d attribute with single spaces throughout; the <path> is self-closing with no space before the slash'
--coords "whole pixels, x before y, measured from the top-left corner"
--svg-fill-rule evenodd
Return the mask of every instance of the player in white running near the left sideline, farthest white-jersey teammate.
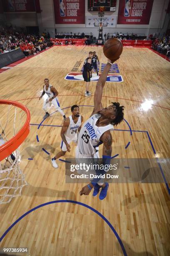
<path id="1" fill-rule="evenodd" d="M 55 89 L 55 87 L 53 87 L 49 83 L 49 79 L 47 78 L 44 79 L 43 92 L 42 92 L 42 95 L 39 97 L 39 100 L 42 99 L 42 96 L 45 95 L 45 93 L 48 95 L 48 99 L 45 100 L 43 105 L 43 110 L 45 111 L 45 116 L 43 116 L 43 119 L 47 118 L 50 115 L 47 111 L 47 108 L 50 107 L 50 105 L 52 104 L 56 108 L 56 110 L 60 112 L 60 114 L 63 116 L 65 120 L 66 119 L 65 114 L 60 108 L 60 104 L 58 102 L 58 98 L 57 98 L 58 92 Z"/>

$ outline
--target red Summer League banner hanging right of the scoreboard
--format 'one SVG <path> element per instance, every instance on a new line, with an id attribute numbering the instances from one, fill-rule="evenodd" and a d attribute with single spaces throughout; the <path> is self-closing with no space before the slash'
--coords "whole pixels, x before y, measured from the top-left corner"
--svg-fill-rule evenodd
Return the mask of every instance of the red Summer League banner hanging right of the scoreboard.
<path id="1" fill-rule="evenodd" d="M 153 0 L 121 0 L 117 24 L 149 24 Z"/>

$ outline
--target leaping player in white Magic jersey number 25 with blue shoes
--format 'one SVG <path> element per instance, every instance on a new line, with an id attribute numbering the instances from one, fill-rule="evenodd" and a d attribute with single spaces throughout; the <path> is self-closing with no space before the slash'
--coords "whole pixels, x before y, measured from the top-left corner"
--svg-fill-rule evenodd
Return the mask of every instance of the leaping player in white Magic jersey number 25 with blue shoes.
<path id="1" fill-rule="evenodd" d="M 98 146 L 103 143 L 102 163 L 104 165 L 110 164 L 112 154 L 112 135 L 110 130 L 113 129 L 114 125 L 122 122 L 124 106 L 120 106 L 118 102 L 112 102 L 109 107 L 103 108 L 101 100 L 107 74 L 109 73 L 112 63 L 116 60 L 117 59 L 110 61 L 108 59 L 108 62 L 97 82 L 92 115 L 82 125 L 78 136 L 78 143 L 75 150 L 75 157 L 77 161 L 82 158 L 92 159 L 99 157 L 97 152 Z M 97 171 L 102 173 L 101 170 Z M 99 193 L 100 188 L 102 188 L 99 199 L 103 200 L 107 195 L 107 189 L 109 186 L 107 182 L 103 182 L 104 181 L 100 179 L 94 179 L 90 184 L 82 188 L 80 195 L 89 195 L 91 189 L 94 187 L 93 196 L 96 196 Z"/>

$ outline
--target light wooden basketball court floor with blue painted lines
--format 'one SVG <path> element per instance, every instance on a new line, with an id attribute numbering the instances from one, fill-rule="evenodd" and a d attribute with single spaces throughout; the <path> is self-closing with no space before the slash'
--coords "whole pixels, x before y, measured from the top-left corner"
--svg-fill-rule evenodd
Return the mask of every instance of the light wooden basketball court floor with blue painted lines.
<path id="1" fill-rule="evenodd" d="M 58 90 L 60 106 L 65 108 L 67 116 L 71 113 L 70 106 L 78 104 L 83 105 L 80 113 L 84 120 L 89 117 L 93 96 L 84 96 L 85 83 L 64 77 L 77 61 L 82 61 L 77 70 L 80 72 L 90 50 L 97 52 L 101 63 L 106 63 L 102 47 L 55 46 L 0 74 L 0 97 L 20 100 L 30 110 L 30 123 L 35 124 L 20 147 L 20 167 L 29 185 L 23 188 L 21 197 L 0 205 L 0 236 L 37 205 L 75 200 L 93 207 L 109 220 L 128 256 L 168 256 L 170 195 L 165 183 L 110 184 L 103 201 L 93 198 L 92 193 L 80 197 L 83 184 L 65 184 L 65 163 L 60 162 L 59 169 L 54 169 L 50 161 L 60 150 L 61 141 L 61 128 L 50 125 L 62 125 L 61 115 L 52 114 L 43 122 L 49 126 L 37 129 L 44 115 L 43 100 L 38 97 L 45 78 Z M 112 132 L 112 154 L 119 154 L 117 158 L 170 158 L 170 63 L 150 49 L 124 47 L 117 64 L 124 82 L 108 82 L 102 102 L 104 107 L 112 101 L 124 105 L 125 120 L 133 131 L 139 132 L 133 132 L 132 136 L 128 131 Z M 90 83 L 92 95 L 95 85 L 96 82 Z M 52 107 L 50 113 L 54 111 Z M 1 116 L 3 120 L 5 115 Z M 129 127 L 124 121 L 116 129 L 129 130 Z M 130 145 L 125 149 L 128 141 Z M 75 145 L 71 144 L 67 157 L 74 156 Z M 125 255 L 115 233 L 99 215 L 82 205 L 66 202 L 46 205 L 25 216 L 7 233 L 0 247 L 28 247 L 31 256 Z"/>

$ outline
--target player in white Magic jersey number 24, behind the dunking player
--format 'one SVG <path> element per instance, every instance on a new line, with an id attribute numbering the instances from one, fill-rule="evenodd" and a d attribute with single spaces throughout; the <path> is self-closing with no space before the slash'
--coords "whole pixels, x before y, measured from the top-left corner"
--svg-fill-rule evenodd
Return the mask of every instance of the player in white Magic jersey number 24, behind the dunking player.
<path id="1" fill-rule="evenodd" d="M 57 153 L 55 157 L 51 159 L 52 166 L 54 168 L 58 167 L 58 164 L 56 163 L 56 159 L 58 159 L 61 156 L 64 156 L 65 153 L 68 151 L 70 152 L 70 142 L 73 141 L 77 144 L 77 132 L 80 131 L 81 125 L 83 122 L 83 117 L 80 115 L 79 106 L 73 105 L 71 107 L 72 115 L 70 115 L 66 120 L 64 121 L 61 129 L 61 151 Z"/>

